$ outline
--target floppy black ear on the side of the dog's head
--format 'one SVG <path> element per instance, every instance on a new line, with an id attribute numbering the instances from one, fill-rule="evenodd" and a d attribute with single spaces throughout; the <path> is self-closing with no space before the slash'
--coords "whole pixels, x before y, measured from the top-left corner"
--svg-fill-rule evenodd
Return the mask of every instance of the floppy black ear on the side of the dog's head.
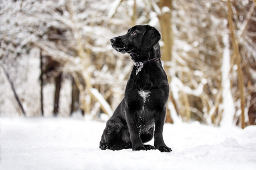
<path id="1" fill-rule="evenodd" d="M 156 43 L 161 39 L 161 35 L 157 29 L 147 25 L 147 29 L 142 36 L 142 49 L 149 50 L 153 48 Z"/>

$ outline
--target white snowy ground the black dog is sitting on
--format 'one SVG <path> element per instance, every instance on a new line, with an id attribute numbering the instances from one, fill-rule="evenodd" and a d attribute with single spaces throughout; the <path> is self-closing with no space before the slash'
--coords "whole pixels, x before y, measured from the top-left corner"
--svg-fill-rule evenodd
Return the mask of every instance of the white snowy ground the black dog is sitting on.
<path id="1" fill-rule="evenodd" d="M 102 151 L 105 122 L 0 117 L 0 127 L 0 169 L 256 169 L 256 126 L 165 124 L 170 153 Z"/>

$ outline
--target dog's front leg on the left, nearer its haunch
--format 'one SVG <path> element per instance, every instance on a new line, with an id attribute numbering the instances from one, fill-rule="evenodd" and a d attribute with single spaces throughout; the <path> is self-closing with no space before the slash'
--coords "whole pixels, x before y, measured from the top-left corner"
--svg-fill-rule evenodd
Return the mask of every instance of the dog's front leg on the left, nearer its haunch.
<path id="1" fill-rule="evenodd" d="M 125 113 L 126 122 L 130 132 L 131 144 L 133 145 L 133 150 L 134 151 L 146 150 L 146 148 L 143 146 L 141 137 L 139 135 L 138 125 L 137 125 L 138 123 L 136 121 L 135 112 L 129 109 L 129 107 L 126 108 L 125 112 L 126 112 Z"/>

